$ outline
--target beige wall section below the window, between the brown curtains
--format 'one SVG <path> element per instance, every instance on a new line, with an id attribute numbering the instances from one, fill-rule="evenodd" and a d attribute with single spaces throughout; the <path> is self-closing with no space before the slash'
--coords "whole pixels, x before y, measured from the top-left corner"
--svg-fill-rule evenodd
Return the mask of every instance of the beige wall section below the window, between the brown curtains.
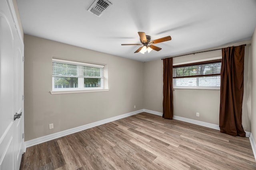
<path id="1" fill-rule="evenodd" d="M 175 89 L 173 101 L 174 115 L 219 124 L 220 90 Z"/>

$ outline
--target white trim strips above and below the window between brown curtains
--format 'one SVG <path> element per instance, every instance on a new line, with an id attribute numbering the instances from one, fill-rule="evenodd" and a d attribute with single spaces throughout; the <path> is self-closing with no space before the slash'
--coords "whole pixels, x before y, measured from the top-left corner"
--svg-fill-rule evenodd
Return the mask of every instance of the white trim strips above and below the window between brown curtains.
<path id="1" fill-rule="evenodd" d="M 195 61 L 187 61 L 182 63 L 175 63 L 172 64 L 173 66 L 176 65 L 182 65 L 182 64 L 190 64 L 190 63 L 199 63 L 203 61 L 211 61 L 211 60 L 218 60 L 222 59 L 222 57 L 212 57 L 208 59 L 201 59 L 201 60 L 195 60 Z M 204 86 L 173 86 L 173 90 L 175 89 L 191 89 L 191 90 L 220 90 L 220 87 L 204 87 Z"/>

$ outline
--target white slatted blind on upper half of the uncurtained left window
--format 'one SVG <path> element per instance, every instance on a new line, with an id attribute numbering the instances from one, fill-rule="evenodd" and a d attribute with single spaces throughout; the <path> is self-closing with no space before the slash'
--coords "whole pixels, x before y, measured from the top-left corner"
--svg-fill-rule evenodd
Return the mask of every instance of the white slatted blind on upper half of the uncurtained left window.
<path id="1" fill-rule="evenodd" d="M 104 66 L 97 64 L 52 59 L 52 76 L 104 78 Z"/>

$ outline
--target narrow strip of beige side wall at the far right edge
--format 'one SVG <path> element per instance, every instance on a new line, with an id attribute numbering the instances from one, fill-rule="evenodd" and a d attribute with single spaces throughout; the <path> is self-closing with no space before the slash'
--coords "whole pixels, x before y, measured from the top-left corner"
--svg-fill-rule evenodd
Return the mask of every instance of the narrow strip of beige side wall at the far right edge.
<path id="1" fill-rule="evenodd" d="M 256 141 L 256 28 L 252 36 L 252 136 Z"/>

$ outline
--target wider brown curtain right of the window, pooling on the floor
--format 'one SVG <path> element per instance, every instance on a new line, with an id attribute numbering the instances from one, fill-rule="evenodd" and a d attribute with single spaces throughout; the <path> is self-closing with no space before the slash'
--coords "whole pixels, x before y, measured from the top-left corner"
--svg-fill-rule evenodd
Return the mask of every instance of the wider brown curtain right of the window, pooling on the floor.
<path id="1" fill-rule="evenodd" d="M 245 137 L 242 127 L 244 46 L 222 49 L 220 82 L 220 132 Z"/>

